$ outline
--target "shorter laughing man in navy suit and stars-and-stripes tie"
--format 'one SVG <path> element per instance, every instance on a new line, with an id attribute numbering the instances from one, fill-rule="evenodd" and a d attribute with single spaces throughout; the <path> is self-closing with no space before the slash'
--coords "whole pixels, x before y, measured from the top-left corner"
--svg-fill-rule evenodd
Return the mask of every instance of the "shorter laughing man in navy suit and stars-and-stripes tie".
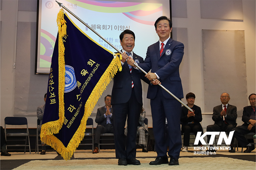
<path id="1" fill-rule="evenodd" d="M 122 71 L 116 73 L 112 89 L 112 107 L 114 115 L 114 138 L 118 165 L 140 165 L 136 159 L 137 126 L 142 107 L 142 86 L 140 79 L 146 79 L 138 69 L 126 62 L 128 55 L 137 63 L 143 63 L 143 58 L 136 55 L 134 48 L 135 34 L 124 30 L 120 36 L 122 46 Z M 150 82 L 148 81 L 148 84 Z M 124 140 L 124 126 L 127 117 L 127 141 Z"/>

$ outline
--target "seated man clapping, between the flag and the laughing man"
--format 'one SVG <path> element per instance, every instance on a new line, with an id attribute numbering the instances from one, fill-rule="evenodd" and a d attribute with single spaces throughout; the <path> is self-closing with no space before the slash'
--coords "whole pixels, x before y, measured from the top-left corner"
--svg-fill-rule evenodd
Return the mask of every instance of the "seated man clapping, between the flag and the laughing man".
<path id="1" fill-rule="evenodd" d="M 92 153 L 99 153 L 99 142 L 101 133 L 114 133 L 113 110 L 111 107 L 111 95 L 105 98 L 105 106 L 98 108 L 95 122 L 98 123 L 94 131 L 94 150 Z"/>

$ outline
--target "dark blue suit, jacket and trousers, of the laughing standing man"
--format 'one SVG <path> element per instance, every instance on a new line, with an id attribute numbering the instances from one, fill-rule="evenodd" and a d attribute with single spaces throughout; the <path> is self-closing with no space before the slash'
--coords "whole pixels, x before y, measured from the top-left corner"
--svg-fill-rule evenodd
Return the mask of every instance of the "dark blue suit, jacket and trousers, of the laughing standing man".
<path id="1" fill-rule="evenodd" d="M 133 53 L 133 59 L 138 59 L 140 63 L 143 63 L 143 58 L 135 53 Z M 139 70 L 133 67 L 132 73 L 130 73 L 129 66 L 125 62 L 122 66 L 122 71 L 118 71 L 114 77 L 111 105 L 113 107 L 117 159 L 133 159 L 136 157 L 137 126 L 142 107 L 142 86 L 140 79 L 144 79 L 149 83 L 149 80 L 144 75 L 144 73 L 139 73 Z M 129 130 L 125 145 L 124 126 L 126 117 Z"/>

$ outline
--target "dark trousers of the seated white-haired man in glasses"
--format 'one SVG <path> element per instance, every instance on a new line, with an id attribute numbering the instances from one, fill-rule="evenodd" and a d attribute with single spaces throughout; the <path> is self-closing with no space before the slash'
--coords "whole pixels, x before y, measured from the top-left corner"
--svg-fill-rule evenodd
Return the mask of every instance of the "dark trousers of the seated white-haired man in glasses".
<path id="1" fill-rule="evenodd" d="M 228 135 L 229 135 L 229 132 L 232 131 L 233 128 L 235 128 L 236 126 L 233 125 L 233 124 L 226 124 L 224 121 L 222 122 L 222 124 L 219 126 L 219 125 L 216 125 L 216 124 L 213 124 L 213 125 L 208 125 L 206 127 L 206 131 L 207 132 L 227 132 Z M 207 135 L 207 143 L 209 144 L 210 142 L 210 139 L 211 139 L 211 135 Z M 233 144 L 234 142 L 234 137 L 232 138 L 231 140 L 231 144 Z"/>

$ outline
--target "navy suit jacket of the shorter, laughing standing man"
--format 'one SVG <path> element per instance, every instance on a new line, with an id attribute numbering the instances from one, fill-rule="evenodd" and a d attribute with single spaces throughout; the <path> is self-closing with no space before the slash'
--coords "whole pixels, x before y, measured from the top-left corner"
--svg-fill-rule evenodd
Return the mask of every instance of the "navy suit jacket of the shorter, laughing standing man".
<path id="1" fill-rule="evenodd" d="M 143 63 L 143 58 L 139 55 L 136 55 L 133 52 L 133 60 L 138 59 L 140 63 Z M 150 83 L 150 81 L 145 77 L 145 74 L 139 72 L 139 70 L 132 67 L 132 73 L 130 72 L 128 63 L 125 61 L 122 66 L 122 71 L 118 71 L 114 77 L 114 84 L 112 88 L 112 104 L 121 104 L 126 103 L 131 98 L 132 95 L 132 81 L 134 85 L 134 92 L 136 95 L 137 101 L 142 104 L 142 86 L 141 81 Z"/>

